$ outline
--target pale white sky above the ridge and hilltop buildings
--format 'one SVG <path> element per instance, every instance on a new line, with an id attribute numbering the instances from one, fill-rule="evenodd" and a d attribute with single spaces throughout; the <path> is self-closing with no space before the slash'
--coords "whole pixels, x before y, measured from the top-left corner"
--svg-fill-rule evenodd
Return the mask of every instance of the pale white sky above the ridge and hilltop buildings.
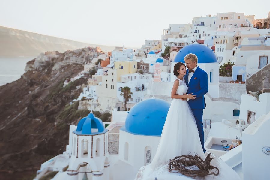
<path id="1" fill-rule="evenodd" d="M 0 0 L 0 26 L 75 41 L 140 47 L 170 24 L 238 12 L 267 18 L 266 0 Z M 265 5 L 263 5 L 265 4 Z"/>

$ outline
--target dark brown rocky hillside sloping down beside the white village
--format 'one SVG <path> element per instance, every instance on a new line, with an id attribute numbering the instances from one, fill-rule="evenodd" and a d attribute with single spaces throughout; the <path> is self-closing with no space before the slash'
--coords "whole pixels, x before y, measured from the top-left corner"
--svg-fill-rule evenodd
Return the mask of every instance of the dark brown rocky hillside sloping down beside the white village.
<path id="1" fill-rule="evenodd" d="M 41 55 L 20 79 L 0 87 L 0 179 L 32 179 L 41 163 L 63 152 L 69 125 L 89 113 L 77 110 L 78 101 L 70 104 L 88 79 L 63 83 L 101 54 L 96 50 Z"/>

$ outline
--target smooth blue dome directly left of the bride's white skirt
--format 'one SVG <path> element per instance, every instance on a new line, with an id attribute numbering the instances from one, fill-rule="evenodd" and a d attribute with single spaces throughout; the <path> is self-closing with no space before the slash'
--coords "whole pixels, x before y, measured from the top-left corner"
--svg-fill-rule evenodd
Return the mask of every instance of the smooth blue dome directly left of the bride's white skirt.
<path id="1" fill-rule="evenodd" d="M 131 108 L 121 130 L 136 135 L 161 136 L 169 108 L 170 103 L 162 99 L 141 101 Z"/>

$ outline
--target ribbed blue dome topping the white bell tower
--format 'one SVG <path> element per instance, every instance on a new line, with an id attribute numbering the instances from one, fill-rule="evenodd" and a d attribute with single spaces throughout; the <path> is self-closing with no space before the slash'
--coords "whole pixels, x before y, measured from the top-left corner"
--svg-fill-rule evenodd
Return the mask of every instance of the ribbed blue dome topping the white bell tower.
<path id="1" fill-rule="evenodd" d="M 98 129 L 98 132 L 93 132 L 92 129 Z M 104 128 L 101 119 L 94 116 L 93 113 L 89 113 L 86 117 L 82 118 L 78 125 L 76 131 L 73 133 L 77 135 L 93 135 L 93 134 L 104 134 L 108 130 Z"/>

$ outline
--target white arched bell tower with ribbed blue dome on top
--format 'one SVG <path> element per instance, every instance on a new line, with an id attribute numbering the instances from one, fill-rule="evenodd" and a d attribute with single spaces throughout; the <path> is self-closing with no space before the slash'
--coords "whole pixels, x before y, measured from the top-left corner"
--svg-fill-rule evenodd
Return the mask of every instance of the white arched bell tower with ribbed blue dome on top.
<path id="1" fill-rule="evenodd" d="M 82 118 L 73 131 L 71 157 L 66 179 L 82 179 L 86 173 L 93 180 L 109 178 L 108 130 L 92 113 Z"/>

